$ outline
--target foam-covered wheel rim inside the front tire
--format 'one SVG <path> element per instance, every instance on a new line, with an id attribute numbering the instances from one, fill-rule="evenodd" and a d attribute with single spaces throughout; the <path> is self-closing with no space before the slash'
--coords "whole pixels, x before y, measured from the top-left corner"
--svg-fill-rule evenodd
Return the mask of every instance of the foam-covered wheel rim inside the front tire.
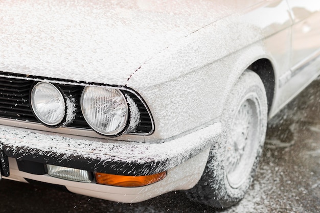
<path id="1" fill-rule="evenodd" d="M 259 117 L 257 100 L 246 99 L 239 107 L 226 144 L 226 178 L 233 188 L 248 180 L 259 146 Z"/>

